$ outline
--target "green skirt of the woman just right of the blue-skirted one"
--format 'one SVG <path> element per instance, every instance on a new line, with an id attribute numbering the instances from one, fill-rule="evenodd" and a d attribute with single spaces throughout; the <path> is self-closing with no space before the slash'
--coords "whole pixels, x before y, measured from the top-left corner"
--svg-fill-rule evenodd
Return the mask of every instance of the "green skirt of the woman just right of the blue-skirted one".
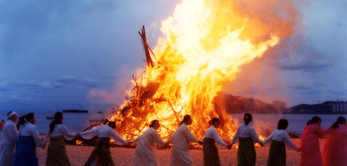
<path id="1" fill-rule="evenodd" d="M 63 136 L 51 137 L 47 149 L 46 166 L 71 166 L 66 154 Z"/>

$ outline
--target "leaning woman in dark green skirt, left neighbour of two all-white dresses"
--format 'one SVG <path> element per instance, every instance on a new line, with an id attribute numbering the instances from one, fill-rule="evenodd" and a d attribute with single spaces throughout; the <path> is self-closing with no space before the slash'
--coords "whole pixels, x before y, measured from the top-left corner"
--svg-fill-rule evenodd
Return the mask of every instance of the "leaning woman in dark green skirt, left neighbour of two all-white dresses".
<path id="1" fill-rule="evenodd" d="M 114 127 L 116 127 L 116 123 L 108 122 L 108 125 L 104 123 L 103 126 L 80 133 L 80 136 L 87 140 L 98 136 L 95 148 L 84 166 L 97 166 L 99 164 L 102 164 L 102 166 L 114 166 L 111 152 L 109 151 L 109 138 L 112 138 L 118 145 L 129 144 L 128 141 L 114 131 Z"/>

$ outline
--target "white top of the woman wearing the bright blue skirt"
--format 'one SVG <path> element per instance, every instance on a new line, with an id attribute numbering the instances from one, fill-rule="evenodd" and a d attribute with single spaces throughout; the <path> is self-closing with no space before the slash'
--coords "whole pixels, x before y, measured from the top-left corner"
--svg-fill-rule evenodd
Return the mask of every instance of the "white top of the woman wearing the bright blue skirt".
<path id="1" fill-rule="evenodd" d="M 21 125 L 18 131 L 18 135 L 21 136 L 32 136 L 35 142 L 35 145 L 38 147 L 43 147 L 43 142 L 41 141 L 39 132 L 35 125 L 30 122 L 26 122 L 24 125 Z"/>

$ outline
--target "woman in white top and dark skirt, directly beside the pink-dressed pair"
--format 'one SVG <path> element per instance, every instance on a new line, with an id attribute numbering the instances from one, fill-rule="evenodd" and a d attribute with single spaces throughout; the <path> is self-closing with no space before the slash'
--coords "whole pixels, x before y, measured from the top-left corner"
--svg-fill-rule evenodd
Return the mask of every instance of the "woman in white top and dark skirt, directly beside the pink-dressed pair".
<path id="1" fill-rule="evenodd" d="M 277 129 L 262 142 L 263 145 L 266 145 L 267 142 L 272 140 L 267 166 L 286 166 L 285 146 L 287 146 L 288 149 L 300 151 L 300 148 L 294 145 L 289 134 L 285 131 L 287 127 L 288 121 L 286 119 L 281 119 L 278 122 Z"/>

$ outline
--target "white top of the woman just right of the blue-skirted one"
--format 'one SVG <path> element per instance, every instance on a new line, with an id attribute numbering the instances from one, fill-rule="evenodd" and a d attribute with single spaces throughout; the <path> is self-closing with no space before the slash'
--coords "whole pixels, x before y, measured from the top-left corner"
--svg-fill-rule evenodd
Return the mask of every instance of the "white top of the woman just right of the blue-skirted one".
<path id="1" fill-rule="evenodd" d="M 51 137 L 64 136 L 65 140 L 70 141 L 76 137 L 76 134 L 70 133 L 65 125 L 57 124 L 54 125 L 53 132 L 50 132 L 48 127 L 46 131 L 46 136 L 44 136 L 43 144 L 46 144 Z"/>

